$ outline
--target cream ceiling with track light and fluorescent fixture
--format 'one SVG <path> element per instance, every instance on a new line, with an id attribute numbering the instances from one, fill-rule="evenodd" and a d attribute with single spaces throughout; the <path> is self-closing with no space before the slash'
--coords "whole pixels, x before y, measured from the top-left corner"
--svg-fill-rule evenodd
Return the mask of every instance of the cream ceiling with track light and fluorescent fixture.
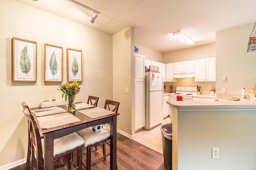
<path id="1" fill-rule="evenodd" d="M 256 0 L 76 0 L 100 12 L 93 24 L 90 10 L 68 0 L 17 1 L 110 34 L 132 26 L 135 43 L 160 52 L 212 43 L 216 31 L 256 21 Z M 180 42 L 176 31 L 196 43 Z"/>

